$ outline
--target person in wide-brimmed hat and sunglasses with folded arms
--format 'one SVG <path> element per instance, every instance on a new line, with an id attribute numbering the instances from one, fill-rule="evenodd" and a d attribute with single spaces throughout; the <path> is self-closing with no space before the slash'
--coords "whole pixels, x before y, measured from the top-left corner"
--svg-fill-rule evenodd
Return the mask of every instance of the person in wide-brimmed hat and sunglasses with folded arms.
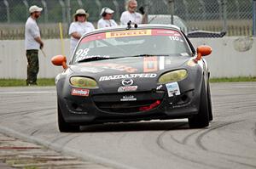
<path id="1" fill-rule="evenodd" d="M 69 26 L 68 35 L 71 36 L 70 39 L 70 49 L 73 54 L 73 50 L 76 47 L 79 39 L 84 35 L 84 33 L 94 31 L 94 26 L 87 21 L 89 14 L 83 8 L 79 8 L 74 16 L 73 23 Z"/>

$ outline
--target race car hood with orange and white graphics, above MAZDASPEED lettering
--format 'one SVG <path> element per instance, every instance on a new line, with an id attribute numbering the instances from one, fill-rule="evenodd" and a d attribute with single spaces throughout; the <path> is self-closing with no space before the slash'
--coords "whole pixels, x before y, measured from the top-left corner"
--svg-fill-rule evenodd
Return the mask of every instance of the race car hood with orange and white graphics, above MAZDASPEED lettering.
<path id="1" fill-rule="evenodd" d="M 178 69 L 191 59 L 189 56 L 154 56 L 103 59 L 70 65 L 70 70 L 79 76 L 101 76 L 156 73 Z"/>

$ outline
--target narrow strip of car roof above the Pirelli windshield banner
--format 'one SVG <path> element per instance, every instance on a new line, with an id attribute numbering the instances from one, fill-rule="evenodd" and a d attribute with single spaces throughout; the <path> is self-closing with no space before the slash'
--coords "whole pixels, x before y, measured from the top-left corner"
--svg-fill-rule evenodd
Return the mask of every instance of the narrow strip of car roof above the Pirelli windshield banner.
<path id="1" fill-rule="evenodd" d="M 96 29 L 95 31 L 90 31 L 89 33 L 85 33 L 83 37 L 87 37 L 90 34 L 95 34 L 95 33 L 103 33 L 103 32 L 108 32 L 108 31 L 126 31 L 128 29 L 127 25 L 117 25 L 114 27 L 107 27 L 107 28 L 100 28 Z M 134 25 L 131 25 L 131 28 L 129 30 L 141 30 L 141 29 L 173 29 L 180 31 L 180 28 L 177 27 L 177 25 L 164 25 L 164 24 L 141 24 L 137 25 L 137 28 L 134 27 Z"/>

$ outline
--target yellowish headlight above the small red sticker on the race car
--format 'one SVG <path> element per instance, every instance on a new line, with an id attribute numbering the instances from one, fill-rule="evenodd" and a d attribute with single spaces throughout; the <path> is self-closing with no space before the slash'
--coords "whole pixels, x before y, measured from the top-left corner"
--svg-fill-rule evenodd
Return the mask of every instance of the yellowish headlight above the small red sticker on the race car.
<path id="1" fill-rule="evenodd" d="M 88 77 L 73 76 L 70 78 L 70 83 L 73 87 L 81 88 L 97 88 L 97 82 Z"/>

